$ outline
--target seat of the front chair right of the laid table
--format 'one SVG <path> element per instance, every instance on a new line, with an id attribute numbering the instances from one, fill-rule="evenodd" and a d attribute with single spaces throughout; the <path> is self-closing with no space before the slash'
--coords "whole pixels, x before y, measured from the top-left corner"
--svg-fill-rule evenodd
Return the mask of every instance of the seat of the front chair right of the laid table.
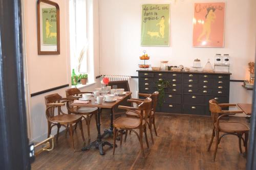
<path id="1" fill-rule="evenodd" d="M 142 125 L 145 124 L 145 120 L 142 120 Z M 134 117 L 118 117 L 113 123 L 116 128 L 135 129 L 140 125 L 140 119 Z"/>

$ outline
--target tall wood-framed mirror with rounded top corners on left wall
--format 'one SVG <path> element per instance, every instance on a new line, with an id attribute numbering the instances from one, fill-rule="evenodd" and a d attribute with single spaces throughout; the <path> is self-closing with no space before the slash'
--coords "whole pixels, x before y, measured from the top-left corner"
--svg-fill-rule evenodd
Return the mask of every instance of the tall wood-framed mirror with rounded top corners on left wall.
<path id="1" fill-rule="evenodd" d="M 60 54 L 59 6 L 48 0 L 37 1 L 38 55 Z"/>

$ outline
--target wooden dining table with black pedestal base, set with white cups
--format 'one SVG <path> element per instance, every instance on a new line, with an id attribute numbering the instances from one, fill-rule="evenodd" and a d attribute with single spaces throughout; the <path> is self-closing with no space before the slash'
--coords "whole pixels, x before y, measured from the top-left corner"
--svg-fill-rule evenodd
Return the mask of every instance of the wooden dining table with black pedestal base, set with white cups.
<path id="1" fill-rule="evenodd" d="M 104 155 L 104 151 L 103 151 L 103 147 L 104 145 L 109 145 L 111 148 L 113 148 L 113 144 L 102 140 L 103 137 L 105 137 L 106 135 L 113 135 L 114 131 L 113 131 L 113 108 L 118 105 L 120 102 L 122 102 L 123 100 L 126 100 L 129 96 L 131 96 L 132 92 L 130 91 L 126 91 L 125 94 L 123 95 L 119 95 L 117 96 L 115 99 L 117 99 L 115 102 L 102 102 L 101 104 L 98 104 L 96 99 L 94 97 L 91 98 L 91 100 L 89 101 L 89 103 L 72 103 L 72 106 L 76 106 L 76 107 L 97 107 L 98 108 L 98 112 L 97 112 L 97 122 L 96 122 L 96 126 L 97 126 L 97 139 L 93 142 L 91 142 L 87 147 L 83 147 L 81 150 L 82 151 L 87 151 L 89 149 L 91 149 L 92 147 L 95 147 L 99 150 L 99 154 L 100 155 Z M 111 110 L 110 112 L 110 128 L 104 130 L 104 133 L 101 135 L 100 133 L 100 109 L 102 108 L 108 108 Z"/>

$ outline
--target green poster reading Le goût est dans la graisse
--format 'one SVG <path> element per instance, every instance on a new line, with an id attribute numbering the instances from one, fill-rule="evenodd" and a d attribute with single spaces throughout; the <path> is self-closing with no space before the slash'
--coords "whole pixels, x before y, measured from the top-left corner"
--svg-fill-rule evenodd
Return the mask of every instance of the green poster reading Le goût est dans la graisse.
<path id="1" fill-rule="evenodd" d="M 141 12 L 141 46 L 169 46 L 169 4 L 144 4 Z"/>

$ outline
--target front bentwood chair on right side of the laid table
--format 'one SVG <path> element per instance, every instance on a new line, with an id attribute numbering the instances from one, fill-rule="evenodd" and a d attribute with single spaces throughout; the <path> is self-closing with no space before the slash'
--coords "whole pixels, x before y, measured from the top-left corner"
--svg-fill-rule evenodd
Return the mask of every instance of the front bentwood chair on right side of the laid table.
<path id="1" fill-rule="evenodd" d="M 143 132 L 145 135 L 145 139 L 146 139 L 146 145 L 147 148 L 148 146 L 148 141 L 147 141 L 147 135 L 146 135 L 146 122 L 147 122 L 147 117 L 148 114 L 151 114 L 152 111 L 152 99 L 151 98 L 146 98 L 144 101 L 137 101 L 137 100 L 127 100 L 128 102 L 134 102 L 139 104 L 138 107 L 129 107 L 129 106 L 118 106 L 118 108 L 120 109 L 124 109 L 124 110 L 134 110 L 134 111 L 138 111 L 136 112 L 139 116 L 139 118 L 135 118 L 135 117 L 118 117 L 117 119 L 114 120 L 113 126 L 114 126 L 114 148 L 113 148 L 113 155 L 115 154 L 115 144 L 116 144 L 116 137 L 118 132 L 120 132 L 120 147 L 122 145 L 122 136 L 123 136 L 123 131 L 124 130 L 131 130 L 133 131 L 139 141 L 140 141 L 140 147 L 141 147 L 141 151 L 144 155 L 144 149 L 143 149 L 143 143 L 142 143 L 142 137 L 143 137 Z M 139 130 L 139 134 L 135 131 L 136 129 Z"/>

